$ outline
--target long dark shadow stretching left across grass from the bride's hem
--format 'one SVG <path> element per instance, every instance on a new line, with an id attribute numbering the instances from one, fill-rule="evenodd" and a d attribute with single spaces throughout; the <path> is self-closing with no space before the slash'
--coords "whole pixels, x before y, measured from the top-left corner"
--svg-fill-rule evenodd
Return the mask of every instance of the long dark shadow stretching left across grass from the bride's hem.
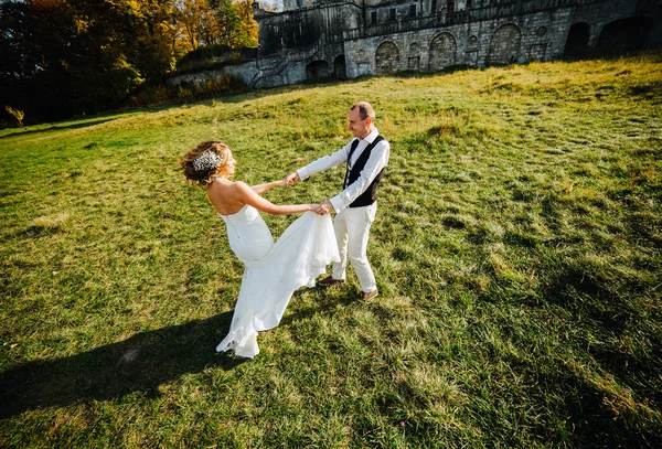
<path id="1" fill-rule="evenodd" d="M 134 392 L 159 395 L 159 385 L 244 359 L 217 354 L 232 312 L 136 334 L 60 360 L 36 361 L 0 374 L 0 418 L 39 407 L 117 399 Z"/>

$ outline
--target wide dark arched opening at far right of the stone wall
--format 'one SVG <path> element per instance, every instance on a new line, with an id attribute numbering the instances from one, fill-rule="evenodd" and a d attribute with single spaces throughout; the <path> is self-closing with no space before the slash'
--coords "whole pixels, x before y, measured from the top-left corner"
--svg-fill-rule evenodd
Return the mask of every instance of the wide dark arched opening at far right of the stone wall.
<path id="1" fill-rule="evenodd" d="M 608 52 L 641 50 L 653 24 L 644 17 L 615 20 L 602 28 L 596 46 Z"/>

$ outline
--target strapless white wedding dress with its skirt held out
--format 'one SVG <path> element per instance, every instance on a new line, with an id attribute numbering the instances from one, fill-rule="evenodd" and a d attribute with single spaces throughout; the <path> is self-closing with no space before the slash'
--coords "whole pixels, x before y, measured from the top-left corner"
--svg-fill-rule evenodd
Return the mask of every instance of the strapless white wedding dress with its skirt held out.
<path id="1" fill-rule="evenodd" d="M 295 290 L 314 287 L 327 265 L 340 260 L 335 234 L 329 214 L 306 212 L 276 243 L 259 212 L 248 204 L 221 217 L 229 247 L 246 269 L 229 333 L 216 351 L 234 350 L 235 355 L 253 359 L 259 353 L 257 332 L 277 327 Z"/>

